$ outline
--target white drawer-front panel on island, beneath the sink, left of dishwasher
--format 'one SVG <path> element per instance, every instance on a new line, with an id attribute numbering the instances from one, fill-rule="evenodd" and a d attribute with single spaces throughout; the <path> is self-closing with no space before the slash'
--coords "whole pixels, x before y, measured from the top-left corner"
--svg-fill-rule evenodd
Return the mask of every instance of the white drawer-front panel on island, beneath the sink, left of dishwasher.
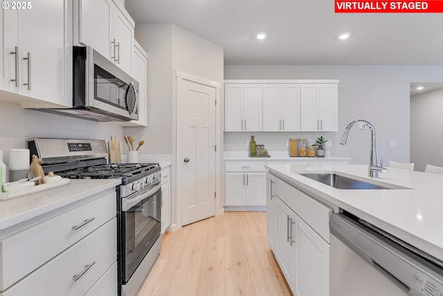
<path id="1" fill-rule="evenodd" d="M 275 181 L 275 195 L 329 243 L 329 218 L 332 209 L 280 179 Z"/>

